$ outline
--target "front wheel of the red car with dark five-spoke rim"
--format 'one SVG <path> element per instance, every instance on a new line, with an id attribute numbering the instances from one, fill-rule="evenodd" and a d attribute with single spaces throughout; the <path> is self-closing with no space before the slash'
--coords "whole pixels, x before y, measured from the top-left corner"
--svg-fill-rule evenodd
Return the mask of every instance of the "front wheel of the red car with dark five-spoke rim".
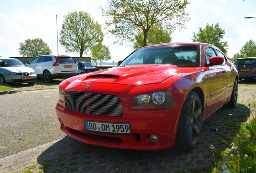
<path id="1" fill-rule="evenodd" d="M 202 105 L 199 96 L 191 91 L 182 107 L 174 147 L 190 151 L 198 144 L 202 129 Z"/>

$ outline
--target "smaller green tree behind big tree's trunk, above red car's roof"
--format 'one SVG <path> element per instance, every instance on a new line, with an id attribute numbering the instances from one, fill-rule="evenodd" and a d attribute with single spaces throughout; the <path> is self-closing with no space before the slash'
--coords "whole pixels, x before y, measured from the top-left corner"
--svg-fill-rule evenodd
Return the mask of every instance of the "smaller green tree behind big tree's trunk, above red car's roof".
<path id="1" fill-rule="evenodd" d="M 136 50 L 138 48 L 141 48 L 144 46 L 144 33 L 140 32 L 139 34 L 135 35 L 135 39 L 133 41 L 133 49 Z M 162 24 L 159 23 L 149 32 L 147 33 L 147 43 L 152 43 L 152 44 L 159 44 L 159 43 L 166 43 L 166 42 L 171 42 L 171 36 L 167 30 L 165 30 L 162 27 Z"/>

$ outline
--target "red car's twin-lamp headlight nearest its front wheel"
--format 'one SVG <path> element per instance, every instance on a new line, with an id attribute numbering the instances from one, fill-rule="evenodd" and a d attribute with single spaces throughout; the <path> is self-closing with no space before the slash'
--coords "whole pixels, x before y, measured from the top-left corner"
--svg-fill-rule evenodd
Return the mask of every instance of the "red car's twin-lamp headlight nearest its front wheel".
<path id="1" fill-rule="evenodd" d="M 160 91 L 133 97 L 131 102 L 131 109 L 169 109 L 174 107 L 174 105 L 175 104 L 171 92 Z"/>

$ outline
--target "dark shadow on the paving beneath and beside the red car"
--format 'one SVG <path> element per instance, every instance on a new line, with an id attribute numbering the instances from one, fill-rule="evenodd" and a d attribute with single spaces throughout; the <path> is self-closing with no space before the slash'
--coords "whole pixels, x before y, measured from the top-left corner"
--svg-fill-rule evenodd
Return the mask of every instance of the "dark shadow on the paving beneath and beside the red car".
<path id="1" fill-rule="evenodd" d="M 234 109 L 222 107 L 202 124 L 198 146 L 190 152 L 174 148 L 161 151 L 137 151 L 88 145 L 69 136 L 47 148 L 37 163 L 47 172 L 175 172 L 191 167 L 214 167 L 211 145 L 215 151 L 225 151 L 229 137 L 235 135 L 241 123 L 250 116 L 248 107 L 237 104 Z M 218 131 L 213 131 L 218 127 Z M 215 159 L 220 160 L 218 156 Z"/>

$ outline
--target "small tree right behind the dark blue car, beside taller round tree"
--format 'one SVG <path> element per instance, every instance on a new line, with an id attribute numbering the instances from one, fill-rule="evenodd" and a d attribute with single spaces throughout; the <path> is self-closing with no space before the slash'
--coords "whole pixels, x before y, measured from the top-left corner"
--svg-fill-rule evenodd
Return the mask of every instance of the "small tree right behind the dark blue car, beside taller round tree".
<path id="1" fill-rule="evenodd" d="M 109 52 L 109 48 L 105 45 L 98 44 L 91 48 L 91 59 L 96 62 L 97 60 L 102 62 L 103 60 L 107 61 L 111 59 L 111 54 Z"/>

